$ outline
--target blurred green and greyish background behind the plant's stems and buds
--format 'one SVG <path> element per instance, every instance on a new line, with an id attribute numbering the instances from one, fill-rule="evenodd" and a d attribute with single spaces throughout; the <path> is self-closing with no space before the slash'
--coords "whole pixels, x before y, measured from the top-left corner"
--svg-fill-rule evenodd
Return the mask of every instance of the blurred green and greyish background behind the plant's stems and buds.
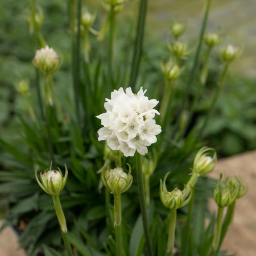
<path id="1" fill-rule="evenodd" d="M 125 40 L 122 26 L 129 29 L 122 21 L 125 15 L 134 15 L 134 1 L 126 4 L 125 9 L 118 14 L 119 43 Z M 104 20 L 105 11 L 101 1 L 84 1 L 88 9 L 97 13 L 94 27 L 98 30 Z M 190 48 L 195 48 L 195 39 L 199 35 L 205 1 L 203 0 L 159 0 L 149 1 L 146 23 L 145 44 L 150 44 L 146 50 L 154 57 L 154 63 L 161 61 L 161 54 L 166 50 L 166 38 L 170 23 L 174 19 L 187 24 L 183 40 Z M 38 0 L 44 11 L 42 28 L 49 46 L 61 53 L 64 58 L 63 68 L 57 72 L 55 79 L 57 94 L 64 104 L 68 104 L 68 94 L 71 93 L 71 76 L 68 72 L 70 64 L 70 39 L 68 34 L 67 1 Z M 26 16 L 29 13 L 30 1 L 0 0 L 0 122 L 1 136 L 15 143 L 19 137 L 16 114 L 25 110 L 24 102 L 14 89 L 14 82 L 20 79 L 31 81 L 31 94 L 34 93 L 33 79 L 35 69 L 31 60 L 35 53 L 34 37 L 29 34 Z M 229 71 L 224 90 L 217 102 L 216 111 L 211 118 L 205 141 L 208 146 L 215 147 L 219 156 L 229 156 L 256 148 L 256 73 L 254 48 L 256 42 L 256 1 L 254 0 L 216 0 L 212 3 L 207 31 L 218 31 L 224 42 L 234 43 L 244 48 L 239 60 L 234 62 Z M 135 13 L 136 14 L 136 13 Z M 119 22 L 120 20 L 120 22 Z M 128 27 L 128 28 L 127 28 Z M 92 42 L 93 50 L 95 50 Z M 104 49 L 102 49 L 104 51 Z M 156 54 L 155 52 L 158 52 Z M 203 52 L 204 53 L 204 52 Z M 164 57 L 164 56 L 162 56 Z M 203 59 L 203 55 L 201 56 Z M 160 64 L 159 64 L 160 65 Z M 213 54 L 210 65 L 209 79 L 205 95 L 200 102 L 197 113 L 209 105 L 210 89 L 216 84 L 219 67 L 217 54 Z M 122 85 L 120 85 L 122 86 Z M 36 104 L 36 98 L 32 98 Z"/>

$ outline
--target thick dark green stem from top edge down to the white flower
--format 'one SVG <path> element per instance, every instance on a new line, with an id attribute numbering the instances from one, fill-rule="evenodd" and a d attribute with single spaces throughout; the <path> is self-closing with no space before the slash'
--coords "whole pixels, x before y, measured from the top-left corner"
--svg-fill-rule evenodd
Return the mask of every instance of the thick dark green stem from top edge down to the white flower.
<path id="1" fill-rule="evenodd" d="M 131 89 L 135 88 L 135 83 L 136 83 L 138 72 L 139 72 L 139 63 L 141 60 L 146 13 L 147 13 L 147 0 L 141 0 L 140 6 L 139 6 L 137 35 L 136 35 L 136 40 L 134 44 L 133 62 L 131 64 L 130 83 L 129 83 L 129 86 L 131 87 Z"/>

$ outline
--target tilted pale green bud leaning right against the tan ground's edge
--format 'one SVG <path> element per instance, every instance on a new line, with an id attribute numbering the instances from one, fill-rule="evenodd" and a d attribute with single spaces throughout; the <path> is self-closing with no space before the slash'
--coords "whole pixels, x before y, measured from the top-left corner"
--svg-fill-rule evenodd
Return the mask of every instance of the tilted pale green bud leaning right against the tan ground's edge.
<path id="1" fill-rule="evenodd" d="M 213 170 L 217 162 L 217 155 L 213 148 L 202 147 L 196 154 L 193 163 L 193 173 L 198 176 L 208 174 Z"/>

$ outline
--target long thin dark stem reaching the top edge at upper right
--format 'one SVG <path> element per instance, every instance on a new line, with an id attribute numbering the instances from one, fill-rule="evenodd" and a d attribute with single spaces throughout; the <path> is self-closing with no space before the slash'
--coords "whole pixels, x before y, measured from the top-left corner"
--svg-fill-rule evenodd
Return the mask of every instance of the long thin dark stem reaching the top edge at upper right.
<path id="1" fill-rule="evenodd" d="M 198 44 L 197 49 L 196 49 L 196 55 L 195 55 L 195 58 L 193 60 L 193 66 L 192 66 L 191 72 L 189 74 L 187 87 L 185 89 L 185 96 L 183 98 L 183 106 L 182 106 L 182 109 L 181 109 L 180 113 L 182 113 L 183 110 L 185 109 L 185 104 L 187 102 L 188 95 L 189 95 L 189 92 L 190 92 L 190 88 L 192 87 L 193 80 L 194 80 L 195 73 L 196 73 L 196 69 L 197 69 L 197 66 L 198 66 L 198 63 L 199 63 L 198 60 L 199 60 L 199 56 L 200 56 L 200 52 L 201 52 L 201 47 L 202 47 L 203 37 L 204 37 L 204 31 L 205 31 L 205 27 L 207 25 L 208 14 L 209 14 L 210 3 L 211 2 L 212 2 L 212 0 L 207 0 L 207 6 L 206 6 L 206 9 L 205 9 L 205 13 L 204 13 L 204 20 L 203 20 L 203 24 L 202 24 L 201 31 L 200 31 L 199 44 Z M 178 120 L 176 122 L 175 130 L 177 130 L 179 128 L 180 121 L 181 121 L 181 114 L 179 114 Z"/>

